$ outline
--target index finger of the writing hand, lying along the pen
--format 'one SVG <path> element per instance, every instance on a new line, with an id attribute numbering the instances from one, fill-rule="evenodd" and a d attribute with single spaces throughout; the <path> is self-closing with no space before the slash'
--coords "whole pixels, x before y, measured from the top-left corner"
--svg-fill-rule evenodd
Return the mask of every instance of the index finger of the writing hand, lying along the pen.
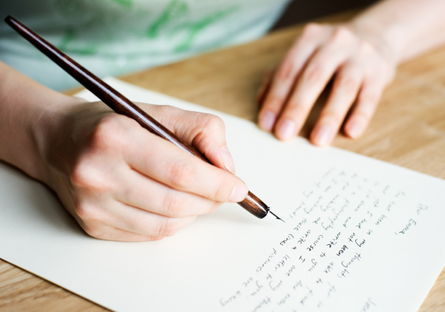
<path id="1" fill-rule="evenodd" d="M 141 127 L 134 127 L 132 132 L 134 140 L 126 144 L 124 159 L 143 175 L 216 202 L 240 202 L 247 196 L 247 186 L 230 172 L 187 154 Z"/>

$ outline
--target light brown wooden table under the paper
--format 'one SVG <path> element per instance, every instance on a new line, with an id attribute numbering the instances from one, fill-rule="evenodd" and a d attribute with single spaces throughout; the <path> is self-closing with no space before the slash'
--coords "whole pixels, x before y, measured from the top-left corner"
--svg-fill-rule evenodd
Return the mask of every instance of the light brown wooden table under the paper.
<path id="1" fill-rule="evenodd" d="M 348 12 L 323 21 L 345 20 L 353 14 Z M 277 31 L 253 43 L 203 54 L 122 79 L 256 120 L 255 98 L 262 74 L 279 62 L 301 30 L 302 26 L 296 26 Z M 302 132 L 303 136 L 307 136 L 313 121 L 312 117 Z M 363 137 L 352 141 L 339 135 L 333 145 L 445 178 L 445 47 L 402 64 Z M 108 311 L 2 260 L 0 310 Z M 419 311 L 445 311 L 445 270 Z"/>

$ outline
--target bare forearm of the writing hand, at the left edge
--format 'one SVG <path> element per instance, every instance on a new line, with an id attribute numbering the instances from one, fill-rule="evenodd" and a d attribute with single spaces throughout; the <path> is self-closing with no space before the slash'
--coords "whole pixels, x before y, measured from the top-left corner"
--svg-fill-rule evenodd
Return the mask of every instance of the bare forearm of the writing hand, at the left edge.
<path id="1" fill-rule="evenodd" d="M 0 159 L 47 183 L 39 120 L 50 107 L 72 99 L 0 62 Z"/>

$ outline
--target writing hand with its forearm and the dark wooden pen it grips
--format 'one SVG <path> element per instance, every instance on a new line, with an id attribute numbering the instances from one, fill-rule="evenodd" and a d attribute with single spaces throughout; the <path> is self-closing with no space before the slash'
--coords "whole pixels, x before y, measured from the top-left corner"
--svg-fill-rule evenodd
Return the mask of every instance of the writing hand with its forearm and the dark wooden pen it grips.
<path id="1" fill-rule="evenodd" d="M 11 17 L 6 20 L 24 27 Z M 54 49 L 51 55 L 62 59 L 58 64 L 69 64 L 64 67 L 68 71 L 74 68 L 71 74 L 86 81 L 90 91 L 95 93 L 98 86 L 95 94 L 120 114 L 103 103 L 55 93 L 3 65 L 11 72 L 12 85 L 27 85 L 29 95 L 40 96 L 29 103 L 29 116 L 21 117 L 32 124 L 34 140 L 25 142 L 31 143 L 29 153 L 17 151 L 21 157 L 2 159 L 56 191 L 89 235 L 118 241 L 160 239 L 223 202 L 240 202 L 260 218 L 268 215 L 269 208 L 232 174 L 234 163 L 219 117 L 169 106 L 139 104 L 140 109 L 54 47 L 45 49 Z M 23 106 L 32 96 L 11 98 Z M 11 108 L 9 113 L 18 112 Z M 33 161 L 26 159 L 32 156 Z M 34 165 L 26 170 L 23 162 Z"/>

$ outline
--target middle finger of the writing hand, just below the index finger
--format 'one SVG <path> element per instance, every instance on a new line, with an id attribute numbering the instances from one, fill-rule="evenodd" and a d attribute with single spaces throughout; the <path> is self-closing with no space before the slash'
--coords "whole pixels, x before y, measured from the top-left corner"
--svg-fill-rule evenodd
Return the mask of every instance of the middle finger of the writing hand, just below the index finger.
<path id="1" fill-rule="evenodd" d="M 116 200 L 156 214 L 178 218 L 196 216 L 216 210 L 221 203 L 201 196 L 180 192 L 160 184 L 134 170 L 126 174 Z"/>

